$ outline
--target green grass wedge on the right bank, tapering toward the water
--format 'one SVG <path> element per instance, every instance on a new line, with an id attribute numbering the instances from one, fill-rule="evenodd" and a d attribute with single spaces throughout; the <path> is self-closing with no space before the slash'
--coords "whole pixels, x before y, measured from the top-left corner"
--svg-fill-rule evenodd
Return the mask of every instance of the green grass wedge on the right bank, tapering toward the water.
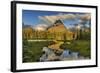
<path id="1" fill-rule="evenodd" d="M 67 42 L 63 43 L 60 47 L 62 49 L 69 49 L 71 51 L 79 52 L 81 56 L 91 57 L 91 48 L 89 40 L 75 40 L 70 44 Z"/>

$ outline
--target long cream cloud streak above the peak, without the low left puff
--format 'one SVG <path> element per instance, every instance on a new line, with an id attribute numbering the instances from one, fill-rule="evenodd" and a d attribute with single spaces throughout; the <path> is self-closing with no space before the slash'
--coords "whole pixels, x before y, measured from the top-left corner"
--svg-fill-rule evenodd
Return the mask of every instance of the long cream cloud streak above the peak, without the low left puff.
<path id="1" fill-rule="evenodd" d="M 39 19 L 43 20 L 44 22 L 48 24 L 53 24 L 56 20 L 73 20 L 76 18 L 80 18 L 81 20 L 90 20 L 91 15 L 89 13 L 87 14 L 63 14 L 59 13 L 57 15 L 50 15 L 50 16 L 39 16 Z"/>

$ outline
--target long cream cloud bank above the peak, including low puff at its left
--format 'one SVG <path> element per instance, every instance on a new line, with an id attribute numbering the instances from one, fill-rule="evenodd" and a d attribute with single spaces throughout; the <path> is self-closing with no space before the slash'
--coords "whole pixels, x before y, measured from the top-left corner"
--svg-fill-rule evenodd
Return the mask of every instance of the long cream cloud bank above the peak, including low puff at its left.
<path id="1" fill-rule="evenodd" d="M 46 30 L 49 26 L 53 25 L 56 20 L 74 20 L 76 18 L 79 18 L 79 23 L 83 23 L 86 20 L 91 19 L 90 14 L 64 14 L 64 13 L 59 13 L 56 15 L 46 15 L 46 16 L 39 16 L 38 17 L 43 24 L 37 24 L 34 29 L 35 30 Z"/>

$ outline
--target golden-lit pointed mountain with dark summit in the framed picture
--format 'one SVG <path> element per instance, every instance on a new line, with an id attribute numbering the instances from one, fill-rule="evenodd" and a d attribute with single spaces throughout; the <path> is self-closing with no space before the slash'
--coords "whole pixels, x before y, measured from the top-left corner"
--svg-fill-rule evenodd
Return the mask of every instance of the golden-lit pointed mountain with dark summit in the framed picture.
<path id="1" fill-rule="evenodd" d="M 53 38 L 56 40 L 72 40 L 76 38 L 76 33 L 67 29 L 61 20 L 57 20 L 47 31 L 52 33 L 52 35 L 54 35 Z"/>

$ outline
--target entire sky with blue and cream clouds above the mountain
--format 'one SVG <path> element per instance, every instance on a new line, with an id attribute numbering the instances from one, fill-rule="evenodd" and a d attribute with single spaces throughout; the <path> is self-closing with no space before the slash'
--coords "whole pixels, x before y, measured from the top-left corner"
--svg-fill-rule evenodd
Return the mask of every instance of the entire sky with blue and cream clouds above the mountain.
<path id="1" fill-rule="evenodd" d="M 36 10 L 23 10 L 22 22 L 24 25 L 31 25 L 36 27 L 47 27 L 52 25 L 57 19 L 61 19 L 65 26 L 73 26 L 80 22 L 90 21 L 89 13 L 75 13 L 75 12 L 55 12 L 55 11 L 36 11 Z M 84 20 L 85 19 L 85 20 Z"/>

